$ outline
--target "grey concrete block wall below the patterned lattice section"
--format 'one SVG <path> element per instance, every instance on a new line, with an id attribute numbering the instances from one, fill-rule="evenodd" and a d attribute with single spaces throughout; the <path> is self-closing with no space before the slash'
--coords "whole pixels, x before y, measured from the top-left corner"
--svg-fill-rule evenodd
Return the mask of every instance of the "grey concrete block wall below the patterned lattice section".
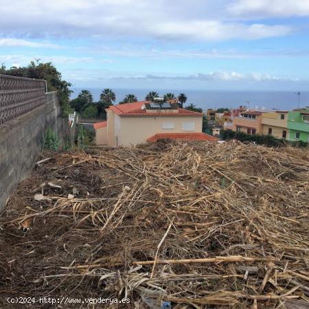
<path id="1" fill-rule="evenodd" d="M 60 117 L 58 94 L 46 93 L 45 99 L 43 106 L 0 126 L 0 211 L 32 171 L 47 128 L 62 139 L 69 137 L 68 120 Z"/>

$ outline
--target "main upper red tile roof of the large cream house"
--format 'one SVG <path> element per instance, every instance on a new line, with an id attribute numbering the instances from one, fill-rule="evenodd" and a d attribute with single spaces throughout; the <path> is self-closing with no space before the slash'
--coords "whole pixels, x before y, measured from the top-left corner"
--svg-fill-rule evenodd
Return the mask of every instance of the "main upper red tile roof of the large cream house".
<path id="1" fill-rule="evenodd" d="M 146 117 L 157 117 L 157 116 L 203 116 L 203 113 L 197 113 L 194 111 L 188 111 L 185 108 L 178 108 L 178 113 L 166 112 L 161 113 L 147 112 L 145 109 L 141 109 L 145 103 L 149 101 L 140 101 L 134 103 L 112 105 L 106 108 L 106 111 L 112 110 L 119 116 L 124 117 L 135 117 L 135 116 L 146 116 Z"/>

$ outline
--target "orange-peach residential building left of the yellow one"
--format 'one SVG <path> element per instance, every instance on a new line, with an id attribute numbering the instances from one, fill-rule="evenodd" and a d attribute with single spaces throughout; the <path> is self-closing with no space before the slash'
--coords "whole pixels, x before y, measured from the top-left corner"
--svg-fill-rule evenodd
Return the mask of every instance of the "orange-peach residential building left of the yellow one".
<path id="1" fill-rule="evenodd" d="M 247 133 L 249 135 L 263 134 L 262 111 L 243 111 L 233 118 L 233 131 Z"/>

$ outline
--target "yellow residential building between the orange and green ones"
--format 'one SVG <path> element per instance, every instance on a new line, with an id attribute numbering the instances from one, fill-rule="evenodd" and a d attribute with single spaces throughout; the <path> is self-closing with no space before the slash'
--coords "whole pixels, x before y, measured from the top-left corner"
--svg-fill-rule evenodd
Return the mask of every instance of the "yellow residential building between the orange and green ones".
<path id="1" fill-rule="evenodd" d="M 288 138 L 288 111 L 262 113 L 262 134 L 277 138 Z"/>

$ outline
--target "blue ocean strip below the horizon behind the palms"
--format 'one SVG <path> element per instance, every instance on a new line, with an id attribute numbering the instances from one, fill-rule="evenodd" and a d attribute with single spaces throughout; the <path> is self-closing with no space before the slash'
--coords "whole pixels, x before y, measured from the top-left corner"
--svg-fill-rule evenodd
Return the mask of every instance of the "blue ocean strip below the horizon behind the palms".
<path id="1" fill-rule="evenodd" d="M 76 98 L 81 88 L 73 88 L 71 98 Z M 93 100 L 98 101 L 102 89 L 88 89 L 93 94 Z M 150 89 L 152 90 L 152 89 Z M 240 105 L 249 108 L 276 108 L 291 110 L 298 107 L 298 95 L 293 91 L 201 91 L 201 90 L 173 90 L 173 89 L 154 89 L 160 95 L 164 93 L 179 93 L 187 95 L 187 104 L 195 104 L 203 108 L 236 108 Z M 116 95 L 116 103 L 122 101 L 126 94 L 133 93 L 138 100 L 144 100 L 149 90 L 146 89 L 113 89 Z M 300 95 L 300 107 L 309 106 L 309 91 L 303 91 Z"/>

